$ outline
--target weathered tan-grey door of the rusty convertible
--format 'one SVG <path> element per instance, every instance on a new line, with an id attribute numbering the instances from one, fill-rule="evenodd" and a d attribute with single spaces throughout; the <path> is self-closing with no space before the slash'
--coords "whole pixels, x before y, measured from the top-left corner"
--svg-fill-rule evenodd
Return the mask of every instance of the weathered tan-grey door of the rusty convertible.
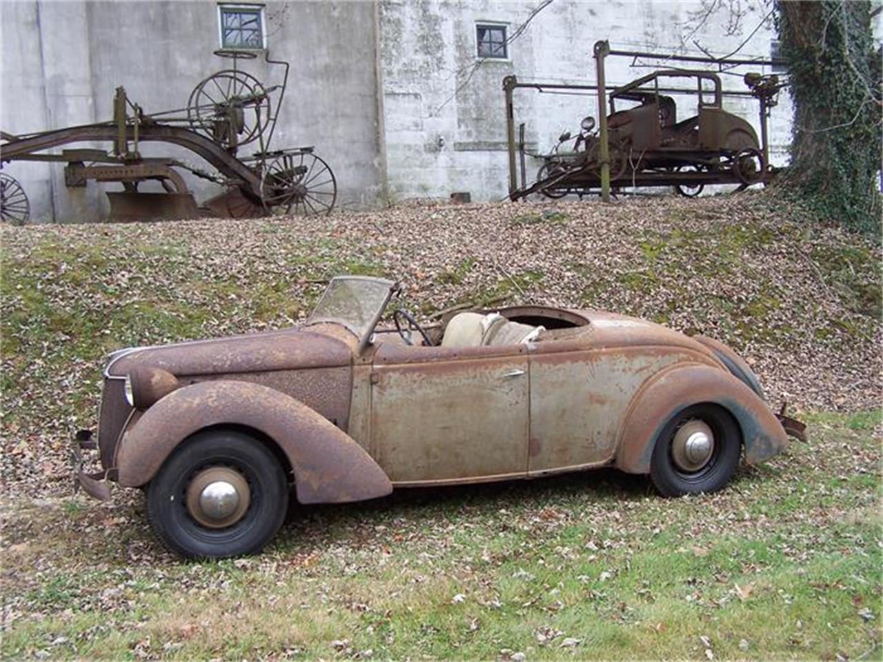
<path id="1" fill-rule="evenodd" d="M 525 476 L 525 346 L 384 344 L 374 355 L 371 381 L 371 455 L 393 483 Z"/>

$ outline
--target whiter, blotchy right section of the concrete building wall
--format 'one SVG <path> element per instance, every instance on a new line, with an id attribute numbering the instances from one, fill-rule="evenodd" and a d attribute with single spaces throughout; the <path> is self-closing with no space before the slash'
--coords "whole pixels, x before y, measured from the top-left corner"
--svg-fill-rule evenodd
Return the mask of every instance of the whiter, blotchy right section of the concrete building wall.
<path id="1" fill-rule="evenodd" d="M 592 47 L 607 39 L 612 48 L 675 52 L 698 41 L 713 54 L 735 50 L 769 11 L 761 2 L 743 3 L 736 30 L 726 9 L 704 19 L 699 0 L 667 2 L 570 2 L 556 0 L 538 13 L 509 44 L 506 60 L 476 57 L 475 26 L 499 22 L 511 36 L 539 5 L 535 0 L 381 0 L 379 38 L 383 115 L 393 199 L 447 197 L 468 191 L 472 199 L 502 199 L 508 187 L 508 155 L 502 79 L 556 83 L 595 82 Z M 731 32 L 732 34 L 728 34 Z M 740 56 L 770 57 L 772 23 L 758 30 Z M 623 84 L 652 71 L 630 59 L 608 58 L 607 79 Z M 681 65 L 681 64 L 678 64 Z M 766 69 L 758 70 L 769 72 Z M 747 90 L 741 75 L 724 76 L 724 87 Z M 695 101 L 679 97 L 678 117 L 695 114 Z M 597 117 L 597 97 L 538 94 L 518 90 L 516 123 L 526 124 L 529 151 L 547 153 L 566 130 L 576 133 L 582 117 Z M 728 98 L 725 108 L 758 128 L 758 104 Z M 787 162 L 791 109 L 781 94 L 771 122 L 771 158 Z M 528 179 L 540 166 L 529 160 Z"/>

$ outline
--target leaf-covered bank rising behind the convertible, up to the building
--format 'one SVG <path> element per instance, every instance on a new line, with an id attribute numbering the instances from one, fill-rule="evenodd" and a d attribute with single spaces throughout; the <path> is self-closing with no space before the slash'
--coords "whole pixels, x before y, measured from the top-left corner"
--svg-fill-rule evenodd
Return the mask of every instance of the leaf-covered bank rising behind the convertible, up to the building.
<path id="1" fill-rule="evenodd" d="M 424 315 L 471 301 L 646 317 L 731 344 L 774 405 L 880 402 L 879 248 L 762 194 L 4 228 L 2 240 L 13 492 L 69 489 L 67 444 L 95 425 L 107 352 L 290 325 L 315 281 L 339 273 L 396 277 Z"/>

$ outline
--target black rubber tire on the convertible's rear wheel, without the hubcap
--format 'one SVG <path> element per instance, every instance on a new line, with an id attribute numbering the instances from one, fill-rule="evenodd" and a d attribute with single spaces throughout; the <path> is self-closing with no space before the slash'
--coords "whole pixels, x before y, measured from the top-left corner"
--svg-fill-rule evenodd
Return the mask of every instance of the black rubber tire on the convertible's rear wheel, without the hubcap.
<path id="1" fill-rule="evenodd" d="M 683 470 L 675 463 L 672 447 L 678 430 L 690 421 L 711 428 L 711 456 L 698 470 Z M 742 455 L 742 433 L 736 419 L 721 406 L 695 404 L 679 411 L 662 429 L 653 446 L 650 478 L 663 496 L 717 492 L 732 478 Z"/>

